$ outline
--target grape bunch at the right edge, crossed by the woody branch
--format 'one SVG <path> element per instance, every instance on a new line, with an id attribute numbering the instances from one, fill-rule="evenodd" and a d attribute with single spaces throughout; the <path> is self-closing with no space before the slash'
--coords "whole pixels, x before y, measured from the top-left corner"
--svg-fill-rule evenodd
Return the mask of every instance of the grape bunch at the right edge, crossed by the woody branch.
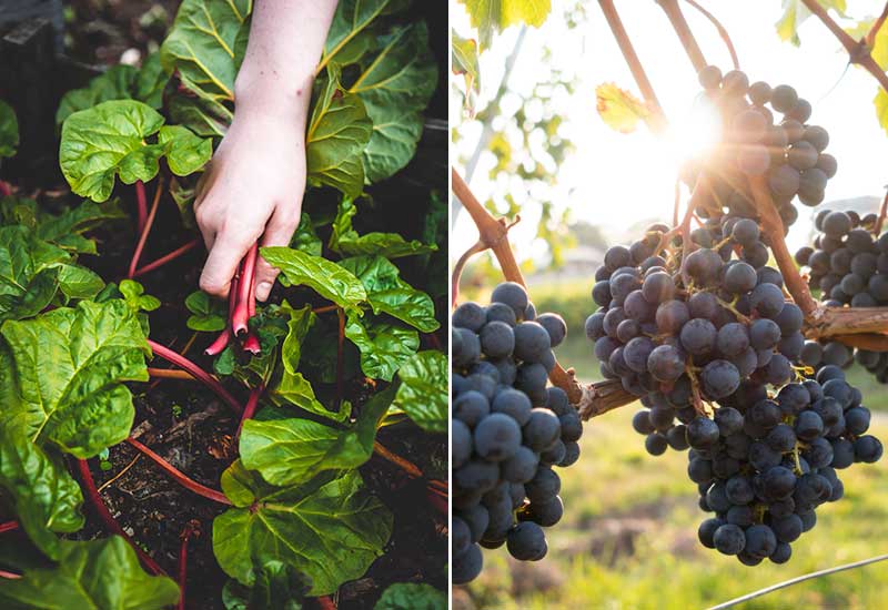
<path id="1" fill-rule="evenodd" d="M 831 307 L 877 307 L 888 305 L 888 233 L 878 238 L 876 214 L 860 217 L 854 211 L 821 210 L 815 216 L 818 231 L 814 247 L 796 252 L 796 262 L 808 270 L 808 285 L 819 291 L 820 302 Z M 849 367 L 855 362 L 888 383 L 888 354 L 851 349 L 823 339 L 806 342 L 801 362 L 819 368 Z"/>

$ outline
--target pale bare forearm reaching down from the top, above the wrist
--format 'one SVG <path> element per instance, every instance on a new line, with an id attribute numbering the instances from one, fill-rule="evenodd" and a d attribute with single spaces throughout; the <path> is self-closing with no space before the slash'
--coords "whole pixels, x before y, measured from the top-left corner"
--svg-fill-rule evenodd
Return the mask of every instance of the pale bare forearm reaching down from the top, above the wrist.
<path id="1" fill-rule="evenodd" d="M 337 0 L 256 0 L 234 83 L 238 111 L 304 124 Z"/>

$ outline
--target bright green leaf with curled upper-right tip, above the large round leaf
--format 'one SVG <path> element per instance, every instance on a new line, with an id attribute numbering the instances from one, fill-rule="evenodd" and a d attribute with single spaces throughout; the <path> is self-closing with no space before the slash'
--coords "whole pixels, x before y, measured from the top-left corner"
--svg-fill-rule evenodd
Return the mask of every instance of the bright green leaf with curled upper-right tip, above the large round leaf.
<path id="1" fill-rule="evenodd" d="M 396 386 L 377 393 L 349 428 L 310 419 L 248 419 L 241 431 L 241 461 L 278 486 L 304 482 L 324 470 L 357 468 L 370 459 L 376 426 L 395 397 Z"/>

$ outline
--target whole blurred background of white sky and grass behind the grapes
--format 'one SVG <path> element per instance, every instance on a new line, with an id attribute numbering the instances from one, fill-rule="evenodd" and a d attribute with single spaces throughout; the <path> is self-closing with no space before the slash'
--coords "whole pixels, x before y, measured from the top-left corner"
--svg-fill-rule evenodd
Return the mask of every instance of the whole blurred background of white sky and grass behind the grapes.
<path id="1" fill-rule="evenodd" d="M 888 182 L 888 138 L 880 125 L 888 116 L 877 113 L 872 77 L 847 67 L 847 53 L 820 22 L 804 20 L 797 0 L 700 3 L 728 29 L 750 81 L 791 84 L 811 102 L 810 122 L 829 131 L 827 152 L 838 159 L 838 174 L 824 204 L 798 204 L 789 250 L 809 242 L 820 209 L 876 211 Z M 885 4 L 830 2 L 837 3 L 847 4 L 849 19 L 840 23 L 848 29 L 866 26 Z M 628 244 L 652 222 L 670 221 L 676 169 L 706 139 L 706 126 L 692 110 L 699 85 L 665 13 L 653 1 L 615 4 L 674 125 L 666 139 L 644 125 L 618 133 L 596 112 L 599 84 L 613 82 L 637 94 L 597 2 L 553 0 L 541 28 L 513 27 L 494 37 L 480 58 L 477 92 L 464 94 L 462 75 L 452 78 L 451 90 L 453 162 L 471 175 L 473 192 L 492 212 L 521 215 L 509 234 L 513 250 L 537 311 L 566 319 L 568 336 L 556 355 L 584 382 L 599 378 L 583 327 L 596 308 L 589 293 L 605 250 Z M 713 26 L 688 4 L 680 7 L 707 60 L 729 70 Z M 451 26 L 463 38 L 475 35 L 456 0 Z M 796 26 L 799 45 L 793 41 Z M 458 203 L 452 213 L 455 261 L 477 232 Z M 498 281 L 493 257 L 475 256 L 463 273 L 460 302 L 486 302 Z M 888 438 L 888 387 L 859 367 L 849 382 L 874 411 L 871 434 Z M 562 475 L 565 515 L 547 530 L 547 557 L 522 563 L 504 549 L 485 551 L 481 577 L 454 588 L 454 608 L 705 608 L 888 552 L 888 460 L 840 472 L 845 498 L 818 510 L 817 526 L 794 543 L 786 565 L 747 568 L 702 547 L 697 526 L 705 517 L 686 476 L 687 457 L 672 450 L 649 456 L 630 426 L 638 408 L 629 405 L 587 423 L 579 461 Z M 740 608 L 876 609 L 885 608 L 886 599 L 888 568 L 877 563 Z"/>

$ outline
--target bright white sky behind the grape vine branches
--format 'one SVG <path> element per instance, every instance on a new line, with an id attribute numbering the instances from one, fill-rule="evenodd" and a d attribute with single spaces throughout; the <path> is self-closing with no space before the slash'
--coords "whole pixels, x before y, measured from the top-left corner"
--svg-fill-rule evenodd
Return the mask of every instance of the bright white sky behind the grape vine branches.
<path id="1" fill-rule="evenodd" d="M 665 13 L 653 1 L 616 0 L 615 3 L 666 115 L 674 124 L 688 121 L 693 130 L 694 116 L 688 110 L 700 89 Z M 700 3 L 728 29 L 740 69 L 750 81 L 790 84 L 811 102 L 814 114 L 809 123 L 829 131 L 826 152 L 838 159 L 839 170 L 829 181 L 826 201 L 862 195 L 880 197 L 888 182 L 888 136 L 879 126 L 872 105 L 876 80 L 854 67 L 842 77 L 847 54 L 816 18 L 808 19 L 799 29 L 801 47 L 780 41 L 774 27 L 781 14 L 781 2 L 777 0 L 700 0 Z M 730 58 L 715 28 L 689 4 L 680 4 L 706 59 L 723 71 L 729 70 Z M 553 16 L 562 14 L 564 6 L 564 0 L 553 0 Z M 878 14 L 882 6 L 882 0 L 848 0 L 848 14 L 857 18 Z M 602 226 L 605 235 L 616 243 L 629 237 L 622 232 L 630 224 L 654 216 L 668 220 L 672 215 L 676 146 L 659 141 L 644 126 L 629 135 L 619 134 L 598 116 L 596 85 L 615 82 L 635 94 L 638 92 L 597 2 L 587 2 L 587 14 L 586 23 L 574 30 L 553 18 L 542 29 L 529 29 L 511 88 L 527 92 L 538 75 L 549 70 L 542 60 L 545 41 L 549 42 L 553 61 L 558 67 L 576 71 L 575 93 L 557 100 L 565 120 L 561 129 L 576 151 L 558 172 L 552 201 L 568 206 L 575 220 Z M 451 23 L 462 35 L 474 38 L 463 7 L 455 0 L 452 0 Z M 496 37 L 493 48 L 482 55 L 478 108 L 495 93 L 517 32 L 517 28 L 512 28 Z M 841 81 L 833 89 L 839 78 Z M 453 110 L 457 104 L 456 98 L 452 98 L 451 124 L 458 120 L 458 112 Z M 453 159 L 457 154 L 467 157 L 474 149 L 480 130 L 472 126 L 460 130 L 461 141 Z M 495 189 L 505 186 L 487 180 L 493 164 L 493 155 L 483 155 L 471 183 L 482 201 Z M 521 193 L 513 194 L 522 201 Z M 805 243 L 813 215 L 810 209 L 797 205 L 800 215 L 789 235 L 790 251 Z M 535 209 L 538 206 L 523 211 L 522 223 L 513 230 L 512 243 L 519 258 L 545 251 L 542 244 L 528 243 L 535 234 Z M 452 235 L 451 253 L 455 260 L 474 243 L 477 232 L 471 218 L 461 214 Z"/>

